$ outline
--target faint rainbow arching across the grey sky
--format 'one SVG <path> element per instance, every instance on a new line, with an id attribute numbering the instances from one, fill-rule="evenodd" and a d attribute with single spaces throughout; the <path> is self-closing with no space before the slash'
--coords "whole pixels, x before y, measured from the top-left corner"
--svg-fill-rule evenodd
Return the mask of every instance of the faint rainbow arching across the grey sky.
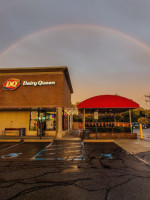
<path id="1" fill-rule="evenodd" d="M 110 27 L 98 26 L 98 25 L 71 24 L 71 25 L 61 25 L 61 26 L 48 27 L 46 29 L 34 32 L 34 33 L 28 35 L 27 37 L 21 38 L 20 40 L 18 40 L 17 42 L 15 42 L 11 46 L 9 46 L 7 49 L 2 51 L 2 53 L 0 53 L 0 59 L 2 57 L 4 57 L 13 48 L 15 48 L 18 45 L 21 45 L 24 41 L 26 41 L 28 39 L 34 38 L 35 36 L 46 33 L 46 32 L 55 32 L 55 31 L 61 32 L 62 30 L 66 29 L 66 28 L 74 28 L 74 29 L 75 28 L 89 28 L 89 29 L 95 29 L 95 30 L 104 30 L 104 31 L 107 31 L 107 32 L 110 32 L 110 33 L 116 33 L 116 34 L 119 34 L 122 38 L 131 40 L 132 42 L 135 42 L 137 45 L 139 45 L 140 47 L 142 47 L 146 51 L 150 52 L 150 46 L 148 46 L 144 42 L 141 42 L 140 40 L 138 40 L 137 38 L 135 38 L 131 35 L 128 35 L 124 32 L 121 32 L 120 30 L 112 29 Z"/>

